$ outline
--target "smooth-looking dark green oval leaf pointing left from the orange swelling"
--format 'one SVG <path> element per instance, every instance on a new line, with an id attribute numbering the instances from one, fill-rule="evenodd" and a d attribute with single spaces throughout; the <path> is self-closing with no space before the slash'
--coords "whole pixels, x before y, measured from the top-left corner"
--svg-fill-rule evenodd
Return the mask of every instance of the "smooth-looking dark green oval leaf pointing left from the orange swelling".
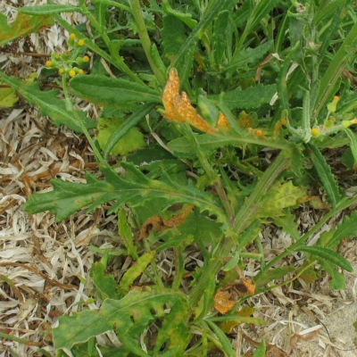
<path id="1" fill-rule="evenodd" d="M 76 76 L 70 81 L 76 95 L 99 105 L 124 106 L 133 103 L 162 103 L 154 89 L 127 79 L 105 76 Z"/>

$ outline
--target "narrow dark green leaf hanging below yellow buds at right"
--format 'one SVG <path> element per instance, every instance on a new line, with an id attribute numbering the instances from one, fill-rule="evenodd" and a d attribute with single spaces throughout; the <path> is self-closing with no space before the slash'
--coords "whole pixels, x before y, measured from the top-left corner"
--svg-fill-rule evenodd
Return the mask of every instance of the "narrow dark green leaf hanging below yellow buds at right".
<path id="1" fill-rule="evenodd" d="M 313 167 L 319 176 L 320 182 L 324 187 L 326 194 L 328 195 L 328 201 L 331 203 L 332 208 L 335 209 L 336 204 L 341 199 L 341 193 L 334 175 L 332 174 L 331 168 L 316 145 L 307 144 L 306 147 Z"/>

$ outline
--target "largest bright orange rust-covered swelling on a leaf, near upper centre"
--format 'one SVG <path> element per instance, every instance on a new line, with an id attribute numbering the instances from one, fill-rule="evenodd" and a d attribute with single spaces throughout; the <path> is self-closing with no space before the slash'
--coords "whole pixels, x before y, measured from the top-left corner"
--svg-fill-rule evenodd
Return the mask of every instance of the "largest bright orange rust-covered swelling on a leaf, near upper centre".
<path id="1" fill-rule="evenodd" d="M 179 123 L 187 122 L 203 132 L 216 133 L 191 105 L 187 94 L 185 92 L 179 94 L 179 75 L 175 68 L 170 69 L 169 80 L 162 92 L 162 103 L 165 107 L 165 112 L 162 115 L 167 120 L 174 120 Z"/>

